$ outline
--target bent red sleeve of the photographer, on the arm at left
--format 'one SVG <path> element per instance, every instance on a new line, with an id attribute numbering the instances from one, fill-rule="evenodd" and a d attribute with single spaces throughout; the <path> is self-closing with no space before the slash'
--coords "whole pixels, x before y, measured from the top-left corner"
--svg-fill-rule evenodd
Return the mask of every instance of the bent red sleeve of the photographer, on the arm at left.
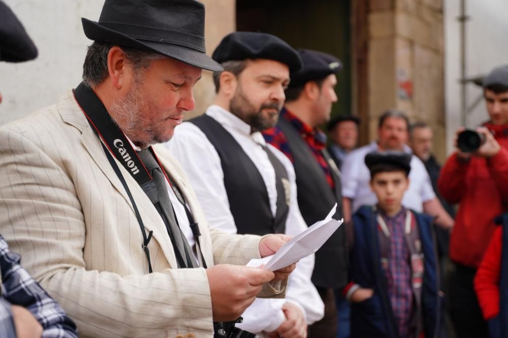
<path id="1" fill-rule="evenodd" d="M 459 203 L 462 199 L 466 191 L 466 171 L 470 162 L 461 162 L 457 159 L 457 154 L 453 154 L 441 168 L 437 189 L 449 203 Z"/>

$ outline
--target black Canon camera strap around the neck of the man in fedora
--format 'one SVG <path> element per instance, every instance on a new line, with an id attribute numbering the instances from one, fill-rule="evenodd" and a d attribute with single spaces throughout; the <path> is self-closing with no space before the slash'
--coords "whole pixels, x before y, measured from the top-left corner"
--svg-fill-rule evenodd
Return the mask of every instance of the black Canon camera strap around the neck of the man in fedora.
<path id="1" fill-rule="evenodd" d="M 115 171 L 116 175 L 122 182 L 122 185 L 129 196 L 129 199 L 131 200 L 131 203 L 133 205 L 134 212 L 136 214 L 136 217 L 138 219 L 138 223 L 141 229 L 141 233 L 143 235 L 143 243 L 142 248 L 145 251 L 145 254 L 148 259 L 148 270 L 151 273 L 152 267 L 150 262 L 150 252 L 148 249 L 148 243 L 150 242 L 150 239 L 152 237 L 152 231 L 148 233 L 148 236 L 146 235 L 145 227 L 143 224 L 143 220 L 141 218 L 141 215 L 139 213 L 139 210 L 136 206 L 136 203 L 134 201 L 134 198 L 131 194 L 131 191 L 129 190 L 129 187 L 125 181 L 125 178 L 120 172 L 120 169 L 118 168 L 117 163 L 114 161 L 113 156 L 120 162 L 125 170 L 127 170 L 131 176 L 136 180 L 136 182 L 140 185 L 141 189 L 145 192 L 145 194 L 148 196 L 150 201 L 154 204 L 157 211 L 161 214 L 161 217 L 164 220 L 164 223 L 166 224 L 166 228 L 168 228 L 168 235 L 171 239 L 171 242 L 173 244 L 175 257 L 178 263 L 179 267 L 182 268 L 192 268 L 192 262 L 189 261 L 190 255 L 192 252 L 188 252 L 186 248 L 184 248 L 184 252 L 180 252 L 178 250 L 178 247 L 176 246 L 175 238 L 174 236 L 182 236 L 182 239 L 186 241 L 185 236 L 179 230 L 180 234 L 172 234 L 172 232 L 169 230 L 168 227 L 168 220 L 164 216 L 164 214 L 161 212 L 161 206 L 158 203 L 157 198 L 157 187 L 146 169 L 145 165 L 139 158 L 137 152 L 132 147 L 129 140 L 126 138 L 125 134 L 121 131 L 121 129 L 113 122 L 110 115 L 108 114 L 108 111 L 102 101 L 97 97 L 97 95 L 91 90 L 90 88 L 86 87 L 83 83 L 79 84 L 79 86 L 74 90 L 74 97 L 76 98 L 76 101 L 78 102 L 79 106 L 81 107 L 81 110 L 83 111 L 83 114 L 85 115 L 86 119 L 88 120 L 88 123 L 92 127 L 92 130 L 96 133 L 96 135 L 102 140 L 102 146 L 103 150 L 108 158 L 108 161 L 110 162 L 113 170 Z M 165 172 L 164 168 L 158 161 L 158 159 L 155 156 L 155 153 L 153 152 L 153 149 L 150 147 L 150 152 L 155 157 L 156 161 L 158 162 L 160 169 L 164 173 L 169 185 L 171 186 L 172 190 L 174 191 L 175 195 L 177 196 L 178 201 L 183 205 L 185 209 L 186 216 L 188 218 L 190 229 L 193 232 L 194 239 L 196 241 L 197 246 L 197 252 L 198 255 L 201 257 L 201 262 L 203 267 L 206 269 L 206 262 L 205 258 L 203 256 L 203 253 L 201 251 L 201 245 L 199 242 L 199 237 L 201 236 L 201 233 L 199 231 L 198 223 L 195 222 L 194 217 L 190 210 L 188 209 L 185 200 L 183 199 L 183 195 L 181 194 L 179 187 L 174 184 L 174 182 L 171 180 L 169 175 Z M 172 206 L 171 206 L 172 208 Z M 175 220 L 178 225 L 178 220 L 175 217 Z M 178 225 L 179 228 L 179 225 Z M 183 255 L 185 255 L 186 259 L 183 258 Z"/>

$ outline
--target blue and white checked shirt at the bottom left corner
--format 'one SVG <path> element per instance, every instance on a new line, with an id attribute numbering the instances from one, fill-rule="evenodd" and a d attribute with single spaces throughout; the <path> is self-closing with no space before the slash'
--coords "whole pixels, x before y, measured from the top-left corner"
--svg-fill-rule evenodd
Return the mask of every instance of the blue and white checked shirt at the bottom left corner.
<path id="1" fill-rule="evenodd" d="M 76 325 L 28 272 L 19 265 L 20 256 L 9 251 L 0 236 L 0 337 L 16 337 L 11 305 L 26 308 L 41 324 L 44 338 L 77 338 Z"/>

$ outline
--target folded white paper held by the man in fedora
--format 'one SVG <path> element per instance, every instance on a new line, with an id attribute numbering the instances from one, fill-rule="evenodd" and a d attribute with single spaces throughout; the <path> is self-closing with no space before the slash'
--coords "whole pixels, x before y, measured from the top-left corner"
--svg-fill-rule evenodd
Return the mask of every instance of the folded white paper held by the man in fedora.
<path id="1" fill-rule="evenodd" d="M 344 221 L 343 219 L 335 220 L 332 218 L 336 209 L 337 203 L 325 219 L 315 222 L 305 231 L 293 237 L 275 254 L 261 259 L 251 259 L 247 263 L 247 267 L 257 268 L 263 266 L 263 269 L 277 271 L 316 252 Z"/>

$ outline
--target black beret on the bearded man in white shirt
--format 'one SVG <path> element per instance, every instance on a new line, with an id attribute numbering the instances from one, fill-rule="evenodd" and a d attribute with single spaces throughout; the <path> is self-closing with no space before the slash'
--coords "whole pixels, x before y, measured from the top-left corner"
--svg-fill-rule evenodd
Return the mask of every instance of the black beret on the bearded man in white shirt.
<path id="1" fill-rule="evenodd" d="M 287 64 L 290 71 L 302 67 L 298 53 L 277 36 L 257 32 L 228 34 L 215 48 L 212 59 L 218 63 L 245 59 L 268 59 Z"/>

